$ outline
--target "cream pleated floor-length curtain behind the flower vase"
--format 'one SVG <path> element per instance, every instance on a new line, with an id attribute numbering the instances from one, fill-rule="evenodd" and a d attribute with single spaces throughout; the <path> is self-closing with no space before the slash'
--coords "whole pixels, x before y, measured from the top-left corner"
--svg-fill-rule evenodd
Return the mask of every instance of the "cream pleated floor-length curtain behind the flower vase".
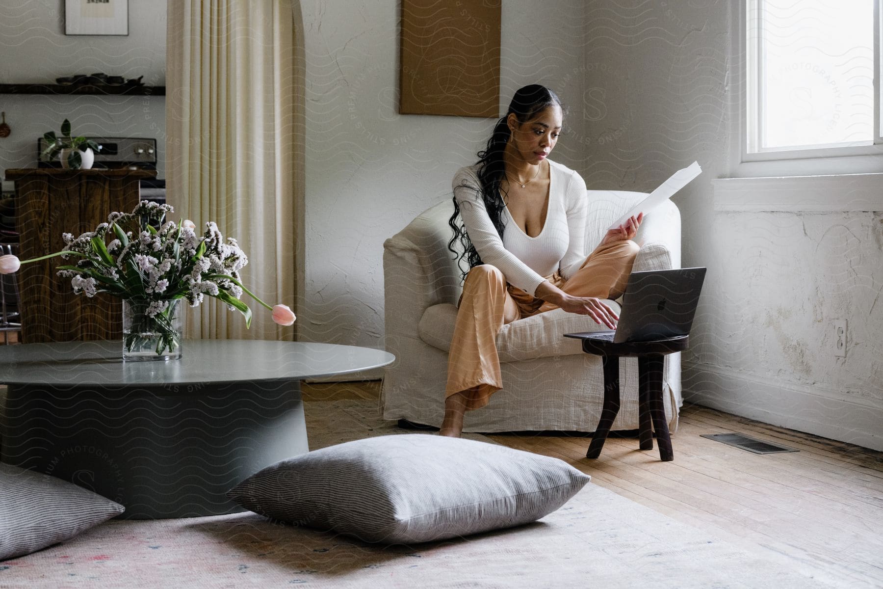
<path id="1" fill-rule="evenodd" d="M 297 0 L 293 0 L 297 1 Z M 245 286 L 294 305 L 298 89 L 292 0 L 169 0 L 166 193 L 175 218 L 215 221 L 248 255 Z M 302 200 L 301 200 L 302 201 Z M 187 336 L 293 339 L 248 295 L 238 312 L 207 298 Z"/>

